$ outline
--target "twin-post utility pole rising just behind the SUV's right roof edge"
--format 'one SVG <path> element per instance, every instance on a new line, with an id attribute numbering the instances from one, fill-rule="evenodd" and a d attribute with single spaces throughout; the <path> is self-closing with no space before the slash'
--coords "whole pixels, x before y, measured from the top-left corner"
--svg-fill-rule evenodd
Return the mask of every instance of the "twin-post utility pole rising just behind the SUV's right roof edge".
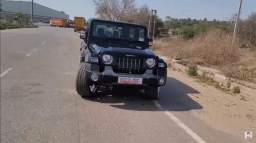
<path id="1" fill-rule="evenodd" d="M 157 18 L 157 10 L 150 10 L 150 17 L 149 17 L 149 30 L 147 32 L 147 37 L 154 38 L 155 34 L 155 20 Z"/>

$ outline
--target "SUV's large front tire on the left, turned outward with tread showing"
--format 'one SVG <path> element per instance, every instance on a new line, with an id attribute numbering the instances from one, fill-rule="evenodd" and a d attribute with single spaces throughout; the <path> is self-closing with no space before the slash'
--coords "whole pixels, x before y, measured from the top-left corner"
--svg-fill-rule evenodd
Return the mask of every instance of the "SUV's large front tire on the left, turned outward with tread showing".
<path id="1" fill-rule="evenodd" d="M 92 87 L 94 88 L 92 89 Z M 86 78 L 86 63 L 81 63 L 76 75 L 76 91 L 79 95 L 84 97 L 90 97 L 98 91 L 98 86 L 88 83 Z"/>

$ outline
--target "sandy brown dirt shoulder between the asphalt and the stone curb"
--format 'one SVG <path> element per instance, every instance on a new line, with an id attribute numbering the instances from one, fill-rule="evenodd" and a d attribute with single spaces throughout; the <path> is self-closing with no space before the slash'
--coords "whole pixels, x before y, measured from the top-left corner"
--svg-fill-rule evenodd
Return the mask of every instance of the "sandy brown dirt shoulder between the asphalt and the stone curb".
<path id="1" fill-rule="evenodd" d="M 203 122 L 240 137 L 246 131 L 256 133 L 256 95 L 228 94 L 172 69 L 168 76 L 200 92 L 188 96 L 203 107 L 196 115 Z"/>

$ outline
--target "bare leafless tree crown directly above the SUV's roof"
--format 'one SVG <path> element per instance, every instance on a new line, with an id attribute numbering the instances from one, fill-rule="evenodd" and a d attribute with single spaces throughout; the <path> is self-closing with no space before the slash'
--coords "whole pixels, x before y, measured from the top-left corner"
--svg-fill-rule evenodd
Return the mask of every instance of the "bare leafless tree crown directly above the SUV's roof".
<path id="1" fill-rule="evenodd" d="M 135 7 L 134 0 L 94 0 L 95 14 L 100 18 L 120 20 Z"/>

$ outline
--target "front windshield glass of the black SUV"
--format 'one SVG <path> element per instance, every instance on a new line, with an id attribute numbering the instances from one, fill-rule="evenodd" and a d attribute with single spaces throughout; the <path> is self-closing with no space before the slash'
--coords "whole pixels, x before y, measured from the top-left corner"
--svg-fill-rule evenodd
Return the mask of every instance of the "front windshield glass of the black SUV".
<path id="1" fill-rule="evenodd" d="M 93 36 L 97 38 L 113 38 L 130 42 L 145 42 L 144 28 L 115 22 L 95 22 Z"/>

